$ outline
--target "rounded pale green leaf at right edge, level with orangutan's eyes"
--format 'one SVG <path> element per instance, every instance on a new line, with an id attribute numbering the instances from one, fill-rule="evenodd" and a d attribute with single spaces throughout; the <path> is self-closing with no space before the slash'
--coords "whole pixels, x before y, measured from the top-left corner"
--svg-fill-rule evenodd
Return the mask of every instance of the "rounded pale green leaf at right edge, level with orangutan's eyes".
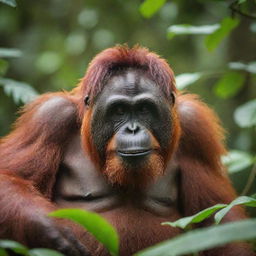
<path id="1" fill-rule="evenodd" d="M 234 119 L 241 128 L 256 125 L 256 99 L 239 106 L 234 112 Z"/>

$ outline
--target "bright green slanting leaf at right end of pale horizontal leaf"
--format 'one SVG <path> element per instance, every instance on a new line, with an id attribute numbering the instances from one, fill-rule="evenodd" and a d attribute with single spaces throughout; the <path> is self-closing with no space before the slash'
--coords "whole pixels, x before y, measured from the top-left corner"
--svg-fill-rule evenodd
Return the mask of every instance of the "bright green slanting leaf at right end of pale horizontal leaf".
<path id="1" fill-rule="evenodd" d="M 220 27 L 205 39 L 206 47 L 209 51 L 214 50 L 220 42 L 229 35 L 229 33 L 239 24 L 238 19 L 230 17 L 224 18 L 221 21 Z"/>

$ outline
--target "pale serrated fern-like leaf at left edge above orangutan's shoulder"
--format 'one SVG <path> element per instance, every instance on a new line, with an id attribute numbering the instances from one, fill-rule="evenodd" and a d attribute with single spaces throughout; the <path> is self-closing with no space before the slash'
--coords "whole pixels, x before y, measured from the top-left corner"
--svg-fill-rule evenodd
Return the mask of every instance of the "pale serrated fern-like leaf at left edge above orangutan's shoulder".
<path id="1" fill-rule="evenodd" d="M 4 92 L 7 95 L 13 97 L 16 104 L 18 104 L 20 101 L 27 103 L 38 96 L 38 93 L 35 91 L 35 89 L 27 83 L 0 78 L 0 86 L 3 86 Z"/>

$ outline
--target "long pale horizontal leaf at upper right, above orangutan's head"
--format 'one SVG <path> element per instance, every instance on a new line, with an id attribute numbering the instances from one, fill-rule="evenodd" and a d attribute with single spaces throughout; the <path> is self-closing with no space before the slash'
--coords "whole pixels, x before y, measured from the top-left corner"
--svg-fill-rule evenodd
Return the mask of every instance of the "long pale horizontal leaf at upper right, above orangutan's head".
<path id="1" fill-rule="evenodd" d="M 167 36 L 172 39 L 176 35 L 208 35 L 216 31 L 219 24 L 192 26 L 189 24 L 172 25 L 167 30 Z"/>

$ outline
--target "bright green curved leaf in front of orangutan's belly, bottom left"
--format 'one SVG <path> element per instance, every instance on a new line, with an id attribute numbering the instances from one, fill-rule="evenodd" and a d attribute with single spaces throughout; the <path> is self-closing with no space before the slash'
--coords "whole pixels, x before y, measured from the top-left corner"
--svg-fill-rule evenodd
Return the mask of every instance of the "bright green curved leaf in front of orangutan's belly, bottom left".
<path id="1" fill-rule="evenodd" d="M 82 225 L 100 241 L 111 253 L 118 255 L 118 235 L 116 230 L 99 214 L 79 209 L 61 209 L 49 214 L 72 220 Z"/>

